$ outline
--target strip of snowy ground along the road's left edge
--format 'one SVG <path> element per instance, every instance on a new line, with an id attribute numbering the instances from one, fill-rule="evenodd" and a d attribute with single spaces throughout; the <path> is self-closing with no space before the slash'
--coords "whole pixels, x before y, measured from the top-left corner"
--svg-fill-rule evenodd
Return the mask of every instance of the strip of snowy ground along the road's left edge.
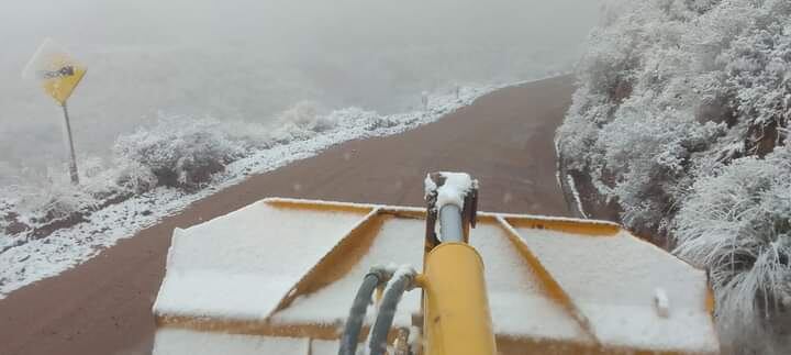
<path id="1" fill-rule="evenodd" d="M 120 238 L 155 224 L 161 218 L 182 210 L 189 203 L 290 162 L 313 156 L 332 145 L 354 138 L 385 136 L 433 122 L 477 98 L 503 86 L 460 88 L 456 93 L 431 96 L 427 111 L 380 115 L 350 108 L 331 112 L 316 121 L 332 122 L 326 131 L 312 136 L 291 134 L 290 141 L 275 140 L 266 148 L 230 163 L 208 185 L 193 192 L 159 186 L 125 201 L 99 209 L 86 222 L 56 230 L 43 238 L 0 234 L 0 298 L 33 281 L 58 275 L 115 244 Z M 99 177 L 102 175 L 100 174 Z M 0 199 L 0 211 L 14 206 L 13 198 Z M 4 203 L 4 207 L 3 207 Z M 1 232 L 0 232 L 1 233 Z"/>

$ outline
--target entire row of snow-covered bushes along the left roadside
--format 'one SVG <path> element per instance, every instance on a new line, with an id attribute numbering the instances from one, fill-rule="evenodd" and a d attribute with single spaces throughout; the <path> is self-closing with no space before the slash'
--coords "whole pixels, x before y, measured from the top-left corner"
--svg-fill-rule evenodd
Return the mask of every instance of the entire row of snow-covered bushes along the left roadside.
<path id="1" fill-rule="evenodd" d="M 229 164 L 261 149 L 336 129 L 409 124 L 413 117 L 381 117 L 358 108 L 320 114 L 308 101 L 283 111 L 274 125 L 160 115 L 154 125 L 120 136 L 109 160 L 80 157 L 79 186 L 68 181 L 65 166 L 20 176 L 19 169 L 0 165 L 0 171 L 14 173 L 0 179 L 0 233 L 43 237 L 157 187 L 193 192 L 213 182 Z"/>

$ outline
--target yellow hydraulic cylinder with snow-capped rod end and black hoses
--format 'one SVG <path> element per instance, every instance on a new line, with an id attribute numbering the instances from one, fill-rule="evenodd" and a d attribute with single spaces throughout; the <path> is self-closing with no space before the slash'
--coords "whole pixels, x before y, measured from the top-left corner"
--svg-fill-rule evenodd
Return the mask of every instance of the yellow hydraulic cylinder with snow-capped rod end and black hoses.
<path id="1" fill-rule="evenodd" d="M 423 274 L 416 274 L 409 267 L 398 270 L 371 269 L 353 303 L 339 355 L 355 353 L 371 293 L 385 280 L 388 280 L 387 288 L 368 335 L 371 355 L 385 354 L 396 306 L 401 295 L 413 287 L 423 289 L 425 354 L 497 354 L 483 279 L 483 260 L 468 244 L 469 226 L 475 226 L 476 222 L 477 189 L 478 182 L 467 174 L 428 175 Z"/>

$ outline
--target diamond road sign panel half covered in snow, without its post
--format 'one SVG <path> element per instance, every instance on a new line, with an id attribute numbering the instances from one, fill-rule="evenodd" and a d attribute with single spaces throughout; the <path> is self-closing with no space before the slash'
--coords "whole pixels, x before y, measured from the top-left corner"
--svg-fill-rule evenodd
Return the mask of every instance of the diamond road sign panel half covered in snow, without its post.
<path id="1" fill-rule="evenodd" d="M 47 38 L 33 55 L 22 76 L 38 80 L 44 92 L 63 106 L 82 80 L 86 70 L 83 65 Z"/>

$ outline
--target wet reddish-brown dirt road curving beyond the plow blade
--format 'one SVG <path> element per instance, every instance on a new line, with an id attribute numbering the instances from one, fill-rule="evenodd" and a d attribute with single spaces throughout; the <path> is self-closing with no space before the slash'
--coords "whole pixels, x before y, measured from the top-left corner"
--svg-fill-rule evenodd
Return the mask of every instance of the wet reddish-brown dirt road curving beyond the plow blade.
<path id="1" fill-rule="evenodd" d="M 148 354 L 172 229 L 265 197 L 422 206 L 427 171 L 459 170 L 480 180 L 480 210 L 570 215 L 555 180 L 553 137 L 572 84 L 561 77 L 503 89 L 417 130 L 347 142 L 198 201 L 0 300 L 0 354 Z"/>

